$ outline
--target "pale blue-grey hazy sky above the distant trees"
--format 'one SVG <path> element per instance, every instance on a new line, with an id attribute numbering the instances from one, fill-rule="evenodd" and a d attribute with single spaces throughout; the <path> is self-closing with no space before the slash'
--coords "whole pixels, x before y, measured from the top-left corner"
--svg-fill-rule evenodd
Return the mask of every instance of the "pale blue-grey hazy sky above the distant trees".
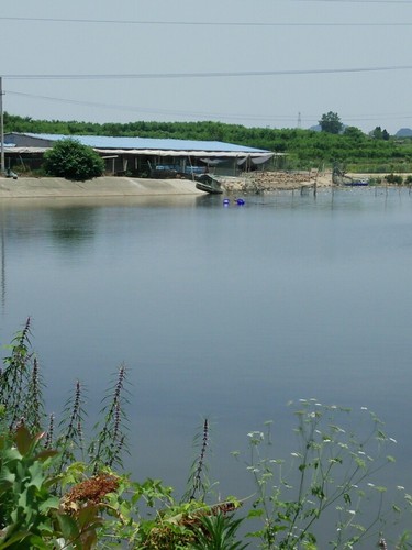
<path id="1" fill-rule="evenodd" d="M 3 110 L 412 128 L 412 0 L 1 0 Z"/>

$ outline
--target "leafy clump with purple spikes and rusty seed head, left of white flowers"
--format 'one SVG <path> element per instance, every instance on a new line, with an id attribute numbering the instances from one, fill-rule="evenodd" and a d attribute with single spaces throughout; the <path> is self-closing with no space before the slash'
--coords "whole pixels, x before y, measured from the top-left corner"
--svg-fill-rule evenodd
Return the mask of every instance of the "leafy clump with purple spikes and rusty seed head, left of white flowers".
<path id="1" fill-rule="evenodd" d="M 235 543 L 238 520 L 232 516 L 238 503 L 205 503 L 209 421 L 196 438 L 199 454 L 182 502 L 158 480 L 138 483 L 115 473 L 112 469 L 122 468 L 122 452 L 127 450 L 125 366 L 119 367 L 103 398 L 87 444 L 79 381 L 57 428 L 54 415 L 47 421 L 30 329 L 27 319 L 8 348 L 0 372 L 0 550 L 87 550 L 120 543 L 193 548 L 204 537 L 215 540 L 219 534 L 224 543 L 219 548 L 237 548 L 227 544 Z M 218 515 L 219 520 L 207 521 Z"/>

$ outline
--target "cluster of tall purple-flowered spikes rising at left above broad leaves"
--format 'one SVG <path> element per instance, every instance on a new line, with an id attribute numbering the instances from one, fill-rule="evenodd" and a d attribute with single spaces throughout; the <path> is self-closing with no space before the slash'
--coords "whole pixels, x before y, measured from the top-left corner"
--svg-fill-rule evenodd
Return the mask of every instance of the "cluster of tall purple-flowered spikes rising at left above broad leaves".
<path id="1" fill-rule="evenodd" d="M 127 450 L 125 408 L 126 367 L 121 365 L 114 381 L 102 399 L 100 420 L 85 441 L 85 400 L 82 385 L 76 382 L 75 394 L 68 399 L 55 435 L 55 417 L 48 425 L 40 382 L 40 366 L 31 349 L 31 320 L 27 319 L 9 346 L 10 355 L 3 360 L 0 372 L 0 411 L 2 422 L 10 433 L 24 425 L 31 432 L 45 432 L 45 447 L 55 447 L 58 459 L 54 463 L 55 474 L 60 475 L 68 464 L 85 460 L 88 451 L 89 465 L 93 474 L 102 468 L 122 466 L 122 453 Z"/>

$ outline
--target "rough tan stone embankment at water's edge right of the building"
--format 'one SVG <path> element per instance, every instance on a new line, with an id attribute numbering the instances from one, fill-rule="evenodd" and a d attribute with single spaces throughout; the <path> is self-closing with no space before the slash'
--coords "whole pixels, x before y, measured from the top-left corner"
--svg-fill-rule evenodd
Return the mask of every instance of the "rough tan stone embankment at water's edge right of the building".
<path id="1" fill-rule="evenodd" d="M 265 193 L 293 190 L 302 187 L 330 187 L 332 173 L 252 172 L 242 177 L 219 177 L 226 193 Z"/>

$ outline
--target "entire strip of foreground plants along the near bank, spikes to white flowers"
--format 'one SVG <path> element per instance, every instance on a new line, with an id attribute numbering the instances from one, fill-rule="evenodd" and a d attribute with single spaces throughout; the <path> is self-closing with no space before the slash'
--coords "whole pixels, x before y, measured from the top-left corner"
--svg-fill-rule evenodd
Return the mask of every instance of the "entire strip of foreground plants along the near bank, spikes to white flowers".
<path id="1" fill-rule="evenodd" d="M 124 365 L 103 399 L 85 461 L 81 384 L 76 383 L 54 438 L 54 421 L 43 428 L 46 417 L 30 320 L 10 350 L 0 374 L 0 550 L 247 547 L 236 540 L 244 520 L 234 516 L 241 503 L 234 497 L 207 503 L 211 497 L 205 477 L 208 419 L 194 439 L 197 458 L 187 494 L 178 502 L 158 480 L 138 483 L 112 470 L 122 466 L 126 439 Z M 33 400 L 30 407 L 24 405 L 27 396 Z M 412 496 L 403 487 L 398 487 L 403 503 L 387 506 L 386 487 L 377 480 L 380 470 L 394 462 L 396 441 L 365 408 L 356 429 L 348 409 L 314 399 L 301 399 L 294 416 L 297 448 L 290 457 L 272 457 L 271 422 L 266 422 L 265 431 L 248 435 L 246 468 L 256 493 L 247 517 L 258 527 L 247 536 L 258 539 L 263 549 L 315 550 L 319 529 L 333 526 L 332 548 L 378 541 L 386 548 L 386 527 L 405 509 L 412 510 Z M 411 534 L 404 532 L 391 542 L 403 550 L 411 548 L 410 540 Z"/>

